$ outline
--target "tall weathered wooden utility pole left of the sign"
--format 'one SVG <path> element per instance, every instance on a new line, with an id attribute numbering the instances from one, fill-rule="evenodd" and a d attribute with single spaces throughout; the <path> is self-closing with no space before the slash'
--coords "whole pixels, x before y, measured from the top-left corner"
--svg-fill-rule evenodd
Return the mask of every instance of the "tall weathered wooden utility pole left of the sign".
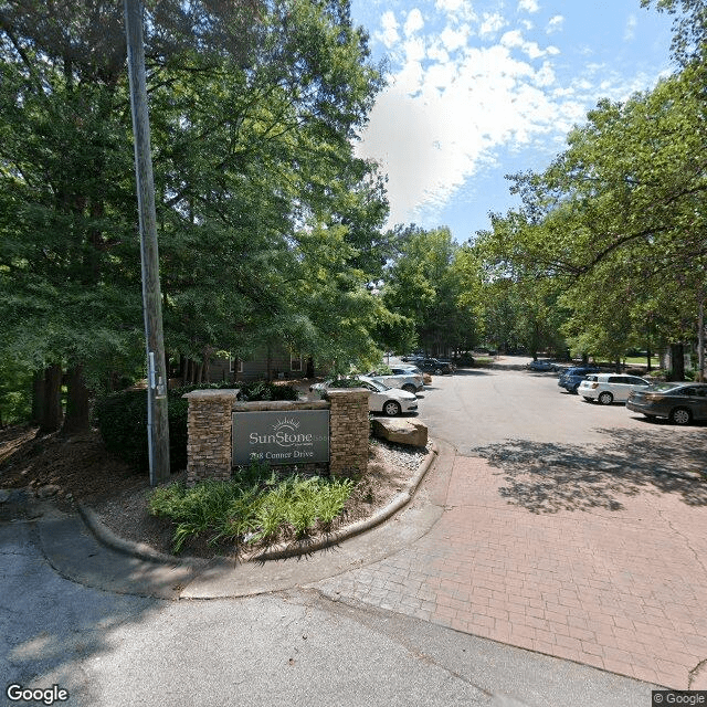
<path id="1" fill-rule="evenodd" d="M 145 80 L 143 40 L 143 0 L 125 0 L 125 33 L 128 49 L 130 106 L 135 139 L 135 176 L 140 224 L 143 263 L 143 310 L 147 344 L 147 443 L 150 462 L 150 486 L 169 479 L 169 423 L 167 419 L 167 368 L 162 336 L 162 305 L 157 252 L 157 215 L 150 124 Z"/>

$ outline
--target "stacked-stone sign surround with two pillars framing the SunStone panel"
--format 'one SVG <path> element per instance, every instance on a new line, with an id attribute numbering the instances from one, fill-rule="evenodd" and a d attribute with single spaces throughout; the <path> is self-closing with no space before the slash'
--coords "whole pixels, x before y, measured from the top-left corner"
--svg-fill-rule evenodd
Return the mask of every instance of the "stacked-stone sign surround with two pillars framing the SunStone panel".
<path id="1" fill-rule="evenodd" d="M 194 390 L 189 400 L 187 484 L 231 476 L 232 413 L 256 410 L 321 410 L 329 408 L 329 473 L 365 473 L 368 467 L 368 391 L 330 390 L 327 401 L 236 402 L 238 390 Z"/>

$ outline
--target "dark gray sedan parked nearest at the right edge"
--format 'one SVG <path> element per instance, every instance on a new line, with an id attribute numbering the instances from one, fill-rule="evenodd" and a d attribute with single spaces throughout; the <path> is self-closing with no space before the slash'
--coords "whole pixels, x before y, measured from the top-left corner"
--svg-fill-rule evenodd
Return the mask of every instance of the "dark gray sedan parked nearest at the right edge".
<path id="1" fill-rule="evenodd" d="M 707 383 L 657 383 L 634 390 L 626 408 L 648 419 L 667 418 L 674 424 L 707 420 Z"/>

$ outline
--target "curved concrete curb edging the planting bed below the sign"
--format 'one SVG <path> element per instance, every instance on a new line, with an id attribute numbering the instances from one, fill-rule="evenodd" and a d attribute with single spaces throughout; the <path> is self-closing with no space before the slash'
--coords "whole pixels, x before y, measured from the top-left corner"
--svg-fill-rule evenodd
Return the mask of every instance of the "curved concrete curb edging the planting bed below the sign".
<path id="1" fill-rule="evenodd" d="M 410 478 L 410 481 L 405 485 L 405 488 L 400 494 L 398 494 L 386 507 L 381 508 L 370 518 L 358 520 L 357 523 L 354 523 L 350 526 L 346 526 L 340 530 L 337 530 L 336 532 L 333 532 L 316 541 L 275 546 L 266 550 L 265 552 L 239 558 L 239 561 L 264 562 L 267 560 L 282 560 L 297 555 L 308 555 L 310 552 L 316 552 L 317 550 L 323 550 L 325 548 L 331 547 L 333 545 L 339 545 L 348 538 L 352 538 L 354 536 L 360 535 L 361 532 L 366 532 L 367 530 L 379 526 L 381 523 L 384 523 L 412 500 L 412 497 L 418 490 L 420 483 L 424 478 L 425 474 L 432 466 L 434 458 L 439 454 L 437 446 L 434 442 L 431 442 L 430 446 L 431 449 L 429 454 L 420 464 L 414 475 Z M 106 547 L 116 550 L 117 552 L 122 552 L 123 555 L 129 555 L 143 560 L 148 560 L 150 562 L 160 562 L 162 564 L 188 564 L 194 567 L 203 567 L 209 563 L 214 563 L 213 559 L 208 560 L 205 558 L 202 559 L 196 557 L 177 557 L 173 555 L 165 555 L 163 552 L 158 552 L 149 545 L 146 545 L 144 542 L 134 542 L 131 540 L 120 538 L 101 521 L 98 515 L 92 508 L 89 508 L 88 506 L 84 506 L 83 504 L 78 504 L 78 513 L 81 514 L 81 517 L 83 518 L 91 532 L 102 545 L 105 545 Z"/>

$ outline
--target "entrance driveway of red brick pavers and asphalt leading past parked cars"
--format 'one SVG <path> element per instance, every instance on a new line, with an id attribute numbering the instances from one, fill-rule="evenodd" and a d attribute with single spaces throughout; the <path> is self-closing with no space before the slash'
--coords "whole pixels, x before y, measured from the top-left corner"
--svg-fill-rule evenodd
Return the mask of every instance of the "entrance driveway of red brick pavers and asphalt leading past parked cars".
<path id="1" fill-rule="evenodd" d="M 560 392 L 557 377 L 435 378 L 444 513 L 326 591 L 674 688 L 707 687 L 707 440 Z M 454 454 L 456 450 L 456 455 Z"/>

